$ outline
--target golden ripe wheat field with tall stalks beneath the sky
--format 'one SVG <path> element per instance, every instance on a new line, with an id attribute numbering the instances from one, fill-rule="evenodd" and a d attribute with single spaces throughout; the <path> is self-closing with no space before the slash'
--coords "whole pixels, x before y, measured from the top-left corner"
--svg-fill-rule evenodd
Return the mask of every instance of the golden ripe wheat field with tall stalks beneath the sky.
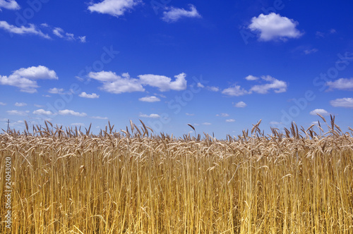
<path id="1" fill-rule="evenodd" d="M 353 233 L 353 130 L 334 122 L 227 140 L 26 123 L 0 135 L 0 232 Z"/>

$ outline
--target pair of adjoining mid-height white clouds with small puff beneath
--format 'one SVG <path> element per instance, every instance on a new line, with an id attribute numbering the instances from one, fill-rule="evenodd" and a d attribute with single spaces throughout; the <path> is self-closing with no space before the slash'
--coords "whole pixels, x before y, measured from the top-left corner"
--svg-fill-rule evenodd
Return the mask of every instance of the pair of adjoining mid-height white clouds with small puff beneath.
<path id="1" fill-rule="evenodd" d="M 116 73 L 113 73 L 112 71 L 104 70 L 98 73 L 88 73 L 88 77 L 102 82 L 102 87 L 100 87 L 100 90 L 113 94 L 121 94 L 124 92 L 144 92 L 145 88 L 143 86 L 145 85 L 157 87 L 161 92 L 166 92 L 169 90 L 186 90 L 185 73 L 175 75 L 174 78 L 176 79 L 174 81 L 164 75 L 138 75 L 138 79 L 135 79 L 131 78 L 128 73 L 116 75 Z M 157 101 L 157 97 L 152 96 L 152 98 L 146 97 L 140 99 L 140 101 L 143 100 Z"/>

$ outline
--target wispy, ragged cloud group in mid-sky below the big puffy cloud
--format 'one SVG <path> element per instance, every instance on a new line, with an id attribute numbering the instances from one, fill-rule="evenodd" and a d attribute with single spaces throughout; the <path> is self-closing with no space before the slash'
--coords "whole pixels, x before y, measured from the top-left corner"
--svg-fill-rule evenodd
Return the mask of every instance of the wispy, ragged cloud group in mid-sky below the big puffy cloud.
<path id="1" fill-rule="evenodd" d="M 248 75 L 246 80 L 259 80 L 265 81 L 267 83 L 263 85 L 253 85 L 250 90 L 245 90 L 240 85 L 233 85 L 222 91 L 222 94 L 226 94 L 229 96 L 243 96 L 245 94 L 252 94 L 256 92 L 258 94 L 267 94 L 270 90 L 273 90 L 275 93 L 286 92 L 287 91 L 287 83 L 282 80 L 277 80 L 270 75 L 263 75 L 261 78 L 258 78 L 253 75 Z"/>

